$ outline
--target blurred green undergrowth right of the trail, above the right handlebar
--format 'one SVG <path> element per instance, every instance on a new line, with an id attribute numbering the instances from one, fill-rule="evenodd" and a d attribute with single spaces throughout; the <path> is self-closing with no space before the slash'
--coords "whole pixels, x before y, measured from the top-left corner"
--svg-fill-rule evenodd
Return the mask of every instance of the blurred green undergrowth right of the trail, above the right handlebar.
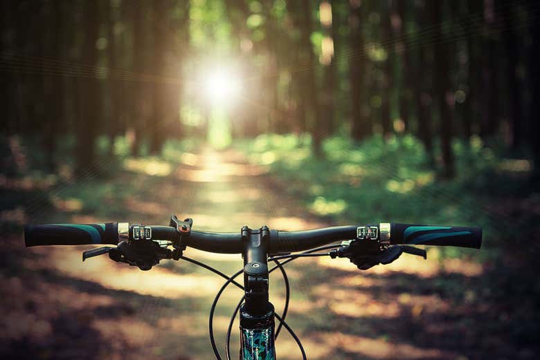
<path id="1" fill-rule="evenodd" d="M 504 170 L 505 166 L 512 169 L 505 165 L 512 160 L 483 146 L 479 138 L 454 142 L 460 176 L 453 181 L 438 178 L 424 146 L 413 135 L 392 136 L 386 142 L 375 135 L 359 145 L 348 138 L 330 138 L 323 144 L 323 160 L 314 158 L 310 142 L 308 135 L 270 134 L 239 146 L 252 162 L 270 167 L 314 214 L 337 223 L 479 225 L 490 241 L 512 236 L 512 223 L 489 209 L 490 200 L 494 191 L 516 196 L 523 191 L 526 177 L 516 178 L 516 171 Z M 492 246 L 483 256 L 495 255 L 489 252 Z M 442 252 L 445 256 L 464 253 L 451 248 Z"/>

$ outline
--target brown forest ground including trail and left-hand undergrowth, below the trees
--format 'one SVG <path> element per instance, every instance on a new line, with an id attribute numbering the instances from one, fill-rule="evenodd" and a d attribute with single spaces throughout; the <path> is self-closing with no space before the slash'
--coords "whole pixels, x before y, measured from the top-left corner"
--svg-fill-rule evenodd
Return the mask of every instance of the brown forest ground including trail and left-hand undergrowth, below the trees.
<path id="1" fill-rule="evenodd" d="M 195 229 L 212 231 L 332 225 L 285 191 L 287 182 L 233 150 L 203 149 L 178 162 L 131 158 L 109 178 L 89 174 L 82 182 L 2 177 L 0 187 L 2 359 L 213 358 L 208 312 L 222 278 L 182 261 L 162 262 L 150 272 L 105 256 L 83 264 L 81 252 L 89 247 L 25 249 L 25 222 L 161 225 L 177 214 L 193 218 Z M 185 254 L 227 274 L 242 264 L 236 255 L 195 249 Z M 308 359 L 536 357 L 537 299 L 524 299 L 526 284 L 516 290 L 509 272 L 474 258 L 444 258 L 435 249 L 429 254 L 428 260 L 402 256 L 366 272 L 343 259 L 287 265 L 287 321 Z M 272 274 L 271 301 L 278 312 L 282 285 L 277 272 Z M 220 350 L 241 295 L 227 290 L 217 309 Z M 233 358 L 237 343 L 234 334 Z M 278 359 L 300 359 L 286 332 L 277 346 Z"/>

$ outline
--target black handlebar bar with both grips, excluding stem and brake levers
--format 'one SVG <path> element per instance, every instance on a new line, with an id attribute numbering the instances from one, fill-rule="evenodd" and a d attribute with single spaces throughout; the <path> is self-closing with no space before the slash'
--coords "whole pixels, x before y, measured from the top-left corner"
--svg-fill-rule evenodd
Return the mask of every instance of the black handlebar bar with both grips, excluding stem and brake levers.
<path id="1" fill-rule="evenodd" d="M 144 228 L 150 228 L 152 240 L 174 240 L 178 236 L 175 227 L 145 226 Z M 271 230 L 269 253 L 300 252 L 339 240 L 360 238 L 361 228 L 356 225 L 348 225 L 303 231 Z M 482 243 L 482 229 L 479 227 L 381 223 L 375 228 L 381 243 L 393 245 L 442 245 L 480 249 Z M 129 227 L 125 222 L 87 225 L 26 225 L 24 239 L 27 247 L 38 245 L 116 245 L 119 239 L 122 240 L 120 232 L 125 231 L 124 240 L 132 239 L 131 230 L 132 227 Z M 218 233 L 192 230 L 189 236 L 185 236 L 182 241 L 183 245 L 206 252 L 240 254 L 244 249 L 240 232 Z"/>

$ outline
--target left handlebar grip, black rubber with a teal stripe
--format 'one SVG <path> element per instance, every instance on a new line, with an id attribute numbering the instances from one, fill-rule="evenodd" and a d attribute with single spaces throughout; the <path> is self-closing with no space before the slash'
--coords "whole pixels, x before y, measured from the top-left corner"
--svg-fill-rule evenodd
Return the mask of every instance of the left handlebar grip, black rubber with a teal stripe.
<path id="1" fill-rule="evenodd" d="M 106 224 L 46 224 L 24 227 L 26 247 L 39 245 L 118 244 L 118 222 Z"/>

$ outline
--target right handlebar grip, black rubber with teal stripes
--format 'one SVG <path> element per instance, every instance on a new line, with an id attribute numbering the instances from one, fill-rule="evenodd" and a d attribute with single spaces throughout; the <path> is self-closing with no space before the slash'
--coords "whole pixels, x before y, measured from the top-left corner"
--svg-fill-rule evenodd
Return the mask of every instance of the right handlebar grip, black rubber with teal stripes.
<path id="1" fill-rule="evenodd" d="M 480 227 L 432 226 L 390 223 L 390 243 L 439 245 L 480 249 Z"/>

